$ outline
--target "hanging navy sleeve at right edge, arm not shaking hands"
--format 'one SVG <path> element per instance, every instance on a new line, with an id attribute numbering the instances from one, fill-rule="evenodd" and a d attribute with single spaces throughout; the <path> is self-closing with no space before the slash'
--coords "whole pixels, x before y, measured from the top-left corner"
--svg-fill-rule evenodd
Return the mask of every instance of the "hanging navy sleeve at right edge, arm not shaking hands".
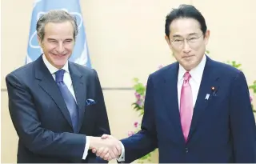
<path id="1" fill-rule="evenodd" d="M 230 127 L 234 162 L 256 162 L 256 127 L 246 78 L 238 73 L 231 86 Z"/>

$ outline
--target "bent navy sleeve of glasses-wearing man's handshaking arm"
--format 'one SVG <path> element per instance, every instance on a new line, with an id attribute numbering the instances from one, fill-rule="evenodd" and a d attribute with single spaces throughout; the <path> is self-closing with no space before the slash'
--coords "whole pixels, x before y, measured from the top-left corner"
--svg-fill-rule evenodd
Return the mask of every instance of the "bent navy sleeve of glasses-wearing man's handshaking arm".
<path id="1" fill-rule="evenodd" d="M 158 147 L 154 117 L 154 86 L 151 78 L 146 85 L 146 98 L 141 130 L 129 138 L 122 139 L 125 147 L 125 163 L 133 162 Z"/>

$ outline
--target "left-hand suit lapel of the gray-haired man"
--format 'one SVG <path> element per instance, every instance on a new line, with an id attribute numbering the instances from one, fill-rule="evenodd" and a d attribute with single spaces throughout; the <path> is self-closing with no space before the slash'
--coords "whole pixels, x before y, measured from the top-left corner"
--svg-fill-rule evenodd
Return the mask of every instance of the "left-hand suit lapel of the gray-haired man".
<path id="1" fill-rule="evenodd" d="M 36 66 L 34 69 L 35 78 L 37 78 L 40 81 L 39 86 L 41 86 L 42 90 L 45 90 L 46 93 L 50 95 L 50 97 L 54 100 L 58 108 L 62 111 L 62 114 L 69 122 L 70 126 L 73 127 L 70 118 L 70 113 L 66 107 L 64 99 L 62 98 L 62 93 L 60 92 L 60 90 L 58 90 L 57 83 L 54 81 L 52 74 L 50 74 L 50 71 L 47 69 L 46 65 L 42 61 L 42 56 L 35 61 L 34 66 Z"/>

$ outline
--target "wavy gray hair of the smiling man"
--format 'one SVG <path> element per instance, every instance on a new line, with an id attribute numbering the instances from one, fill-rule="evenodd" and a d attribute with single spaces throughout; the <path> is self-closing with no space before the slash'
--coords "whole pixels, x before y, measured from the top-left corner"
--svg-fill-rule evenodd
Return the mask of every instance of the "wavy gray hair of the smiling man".
<path id="1" fill-rule="evenodd" d="M 65 10 L 50 10 L 48 13 L 43 14 L 37 22 L 37 34 L 41 40 L 45 36 L 45 26 L 48 22 L 70 22 L 74 27 L 74 40 L 78 35 L 78 24 L 75 17 L 66 12 Z"/>

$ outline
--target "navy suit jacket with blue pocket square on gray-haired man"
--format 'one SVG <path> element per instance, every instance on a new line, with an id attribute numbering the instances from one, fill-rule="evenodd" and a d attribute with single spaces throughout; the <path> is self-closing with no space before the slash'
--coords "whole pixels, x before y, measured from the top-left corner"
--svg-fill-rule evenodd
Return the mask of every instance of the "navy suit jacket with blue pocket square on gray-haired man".
<path id="1" fill-rule="evenodd" d="M 19 138 L 18 162 L 103 162 L 91 151 L 82 160 L 86 135 L 110 134 L 98 75 L 73 62 L 69 70 L 78 103 L 78 133 L 73 131 L 62 94 L 42 56 L 6 76 L 10 117 Z M 86 106 L 88 98 L 96 103 Z"/>

